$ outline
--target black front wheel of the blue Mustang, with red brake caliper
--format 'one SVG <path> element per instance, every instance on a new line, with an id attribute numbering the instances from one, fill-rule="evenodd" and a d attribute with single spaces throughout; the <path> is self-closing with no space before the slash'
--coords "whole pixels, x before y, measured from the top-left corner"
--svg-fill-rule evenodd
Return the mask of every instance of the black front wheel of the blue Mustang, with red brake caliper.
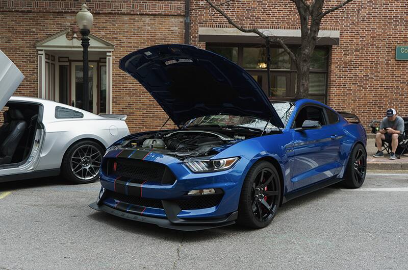
<path id="1" fill-rule="evenodd" d="M 248 171 L 242 185 L 238 224 L 264 228 L 275 217 L 281 202 L 281 181 L 276 168 L 267 161 L 258 161 Z"/>

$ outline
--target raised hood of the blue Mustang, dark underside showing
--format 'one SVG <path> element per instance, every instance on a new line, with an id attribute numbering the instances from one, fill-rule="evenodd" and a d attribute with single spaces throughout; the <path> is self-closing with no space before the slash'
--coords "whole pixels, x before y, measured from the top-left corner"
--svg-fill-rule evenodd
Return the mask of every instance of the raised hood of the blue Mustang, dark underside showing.
<path id="1" fill-rule="evenodd" d="M 147 47 L 119 68 L 138 80 L 176 125 L 205 115 L 250 116 L 283 128 L 268 97 L 243 68 L 195 46 Z"/>

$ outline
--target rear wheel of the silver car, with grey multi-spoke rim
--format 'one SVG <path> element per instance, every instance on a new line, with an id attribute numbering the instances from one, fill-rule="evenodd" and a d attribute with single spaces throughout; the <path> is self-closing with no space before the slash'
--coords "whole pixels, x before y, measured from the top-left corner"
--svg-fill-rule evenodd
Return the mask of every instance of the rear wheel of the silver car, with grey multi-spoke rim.
<path id="1" fill-rule="evenodd" d="M 77 184 L 92 183 L 99 178 L 99 166 L 104 149 L 91 140 L 78 141 L 65 152 L 61 164 L 62 176 Z"/>

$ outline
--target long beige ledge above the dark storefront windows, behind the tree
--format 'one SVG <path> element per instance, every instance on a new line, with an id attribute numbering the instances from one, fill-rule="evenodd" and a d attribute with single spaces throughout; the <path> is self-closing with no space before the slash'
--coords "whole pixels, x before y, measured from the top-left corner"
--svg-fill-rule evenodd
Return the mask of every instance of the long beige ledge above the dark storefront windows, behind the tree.
<path id="1" fill-rule="evenodd" d="M 260 29 L 269 36 L 282 38 L 286 44 L 300 44 L 300 30 Z M 254 33 L 243 33 L 236 28 L 205 28 L 198 29 L 198 41 L 220 43 L 264 43 L 264 39 Z M 339 45 L 340 31 L 320 30 L 316 45 Z"/>

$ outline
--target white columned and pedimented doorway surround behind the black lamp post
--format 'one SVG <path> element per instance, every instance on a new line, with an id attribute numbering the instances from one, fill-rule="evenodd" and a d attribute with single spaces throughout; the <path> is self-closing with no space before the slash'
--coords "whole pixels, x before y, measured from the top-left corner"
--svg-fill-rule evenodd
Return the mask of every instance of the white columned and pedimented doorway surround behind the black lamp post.
<path id="1" fill-rule="evenodd" d="M 89 36 L 89 93 L 91 111 L 112 112 L 112 52 L 114 44 Z M 38 51 L 38 96 L 82 108 L 83 67 L 81 40 L 70 29 L 36 44 Z"/>

